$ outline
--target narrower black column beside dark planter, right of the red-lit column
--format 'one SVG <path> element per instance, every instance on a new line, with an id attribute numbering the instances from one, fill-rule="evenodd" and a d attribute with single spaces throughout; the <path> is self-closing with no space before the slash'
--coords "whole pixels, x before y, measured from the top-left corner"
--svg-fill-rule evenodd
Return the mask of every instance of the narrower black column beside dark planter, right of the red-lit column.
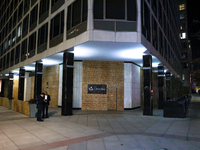
<path id="1" fill-rule="evenodd" d="M 164 101 L 165 101 L 164 67 L 158 66 L 158 109 L 163 109 Z"/>

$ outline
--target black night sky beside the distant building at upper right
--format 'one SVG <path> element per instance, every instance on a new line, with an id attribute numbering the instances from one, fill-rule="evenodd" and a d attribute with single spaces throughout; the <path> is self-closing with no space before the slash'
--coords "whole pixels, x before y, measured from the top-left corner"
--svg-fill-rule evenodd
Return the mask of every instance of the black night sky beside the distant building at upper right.
<path id="1" fill-rule="evenodd" d="M 188 32 L 193 59 L 200 58 L 200 4 L 199 0 L 188 0 Z"/>

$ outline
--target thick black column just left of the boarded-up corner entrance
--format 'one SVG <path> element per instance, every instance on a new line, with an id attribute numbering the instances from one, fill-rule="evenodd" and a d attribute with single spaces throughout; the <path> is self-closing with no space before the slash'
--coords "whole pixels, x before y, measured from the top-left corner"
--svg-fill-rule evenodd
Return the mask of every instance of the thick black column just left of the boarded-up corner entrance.
<path id="1" fill-rule="evenodd" d="M 65 51 L 63 54 L 62 115 L 73 114 L 73 73 L 74 54 Z"/>

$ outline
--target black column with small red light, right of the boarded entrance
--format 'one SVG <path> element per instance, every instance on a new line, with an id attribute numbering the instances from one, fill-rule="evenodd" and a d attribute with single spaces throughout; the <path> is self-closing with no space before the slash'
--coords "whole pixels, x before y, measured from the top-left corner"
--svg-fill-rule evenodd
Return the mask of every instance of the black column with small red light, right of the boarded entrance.
<path id="1" fill-rule="evenodd" d="M 143 85 L 144 85 L 144 109 L 143 115 L 153 115 L 153 100 L 151 95 L 152 85 L 152 56 L 143 56 Z"/>

